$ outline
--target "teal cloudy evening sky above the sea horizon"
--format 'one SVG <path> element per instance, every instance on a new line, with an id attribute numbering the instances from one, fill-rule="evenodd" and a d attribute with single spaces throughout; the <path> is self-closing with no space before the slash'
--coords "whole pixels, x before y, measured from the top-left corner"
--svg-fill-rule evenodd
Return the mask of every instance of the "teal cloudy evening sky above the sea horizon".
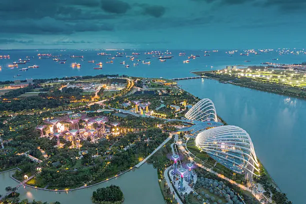
<path id="1" fill-rule="evenodd" d="M 0 49 L 306 46 L 306 0 L 0 0 Z"/>

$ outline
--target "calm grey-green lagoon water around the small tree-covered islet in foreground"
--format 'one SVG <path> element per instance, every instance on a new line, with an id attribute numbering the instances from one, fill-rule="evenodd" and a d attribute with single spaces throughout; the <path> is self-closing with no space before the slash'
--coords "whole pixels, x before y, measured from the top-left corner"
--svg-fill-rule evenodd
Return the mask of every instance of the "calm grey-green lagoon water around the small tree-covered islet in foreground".
<path id="1" fill-rule="evenodd" d="M 0 194 L 5 194 L 6 186 L 16 186 L 17 182 L 9 177 L 13 171 L 0 173 Z M 165 203 L 159 188 L 157 170 L 153 165 L 144 163 L 140 168 L 128 171 L 117 178 L 107 182 L 87 187 L 80 190 L 69 192 L 54 192 L 39 190 L 30 187 L 20 187 L 17 192 L 20 193 L 20 199 L 41 200 L 47 202 L 59 201 L 61 204 L 68 203 L 92 203 L 90 200 L 92 191 L 99 187 L 106 187 L 110 184 L 120 186 L 124 195 L 124 204 Z"/>

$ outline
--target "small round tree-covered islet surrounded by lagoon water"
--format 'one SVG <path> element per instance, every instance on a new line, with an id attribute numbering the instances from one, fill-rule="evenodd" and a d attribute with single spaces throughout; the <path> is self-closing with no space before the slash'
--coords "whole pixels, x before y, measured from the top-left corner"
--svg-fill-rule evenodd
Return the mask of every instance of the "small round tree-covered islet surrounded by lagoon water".
<path id="1" fill-rule="evenodd" d="M 98 188 L 96 191 L 93 191 L 91 199 L 95 203 L 119 204 L 123 202 L 124 197 L 119 186 L 110 185 L 107 187 Z"/>

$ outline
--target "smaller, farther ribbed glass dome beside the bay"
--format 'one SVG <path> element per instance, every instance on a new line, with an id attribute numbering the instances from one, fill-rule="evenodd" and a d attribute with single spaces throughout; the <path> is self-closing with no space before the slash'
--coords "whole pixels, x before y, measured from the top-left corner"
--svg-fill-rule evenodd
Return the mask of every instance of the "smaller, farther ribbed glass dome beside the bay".
<path id="1" fill-rule="evenodd" d="M 193 105 L 185 114 L 185 117 L 192 120 L 217 122 L 217 115 L 213 102 L 209 98 L 203 98 Z"/>

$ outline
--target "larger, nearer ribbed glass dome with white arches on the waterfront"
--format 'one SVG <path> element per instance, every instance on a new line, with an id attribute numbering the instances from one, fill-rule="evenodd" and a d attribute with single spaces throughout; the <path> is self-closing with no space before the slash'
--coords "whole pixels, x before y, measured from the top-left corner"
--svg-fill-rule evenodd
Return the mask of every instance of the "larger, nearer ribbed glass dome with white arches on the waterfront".
<path id="1" fill-rule="evenodd" d="M 203 130 L 195 144 L 214 160 L 236 173 L 258 170 L 253 143 L 248 133 L 237 126 L 224 125 Z"/>

